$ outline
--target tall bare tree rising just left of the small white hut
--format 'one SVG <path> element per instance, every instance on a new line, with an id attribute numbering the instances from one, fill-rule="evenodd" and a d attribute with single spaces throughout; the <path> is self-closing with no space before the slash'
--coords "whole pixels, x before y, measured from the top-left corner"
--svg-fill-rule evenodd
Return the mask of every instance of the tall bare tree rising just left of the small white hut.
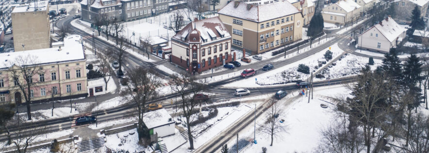
<path id="1" fill-rule="evenodd" d="M 123 97 L 130 97 L 132 105 L 137 109 L 137 131 L 140 141 L 150 139 L 149 129 L 143 122 L 143 117 L 147 111 L 148 101 L 158 97 L 158 91 L 155 87 L 161 84 L 161 79 L 156 74 L 157 71 L 144 67 L 131 70 L 128 73 L 129 83 L 121 93 Z"/>

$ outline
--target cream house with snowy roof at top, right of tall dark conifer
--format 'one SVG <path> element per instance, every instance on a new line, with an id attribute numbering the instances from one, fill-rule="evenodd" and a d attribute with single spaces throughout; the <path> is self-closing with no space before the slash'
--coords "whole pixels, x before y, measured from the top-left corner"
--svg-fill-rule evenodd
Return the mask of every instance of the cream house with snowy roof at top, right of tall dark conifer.
<path id="1" fill-rule="evenodd" d="M 322 10 L 323 21 L 341 25 L 356 21 L 361 15 L 361 5 L 354 0 L 339 0 Z"/>

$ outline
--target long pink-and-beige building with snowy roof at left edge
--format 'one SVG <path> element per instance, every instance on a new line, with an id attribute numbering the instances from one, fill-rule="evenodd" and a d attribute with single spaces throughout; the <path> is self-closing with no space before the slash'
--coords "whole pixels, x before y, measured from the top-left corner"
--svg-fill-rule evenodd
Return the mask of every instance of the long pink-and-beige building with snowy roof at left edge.
<path id="1" fill-rule="evenodd" d="M 52 93 L 55 100 L 87 95 L 86 57 L 79 35 L 67 36 L 64 46 L 1 53 L 0 60 L 5 61 L 0 66 L 0 102 L 11 101 L 18 105 L 26 102 L 18 86 L 28 84 L 19 73 L 23 66 L 35 70 L 29 81 L 34 83 L 32 102 L 51 100 Z M 18 72 L 18 78 L 14 78 L 14 71 Z"/>

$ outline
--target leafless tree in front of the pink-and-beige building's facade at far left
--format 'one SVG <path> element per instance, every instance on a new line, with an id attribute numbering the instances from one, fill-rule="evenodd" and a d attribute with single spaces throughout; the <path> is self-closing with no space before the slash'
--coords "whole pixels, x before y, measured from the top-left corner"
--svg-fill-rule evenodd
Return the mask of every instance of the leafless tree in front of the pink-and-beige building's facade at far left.
<path id="1" fill-rule="evenodd" d="M 34 81 L 36 79 L 33 80 L 33 76 L 36 76 L 38 71 L 41 70 L 36 66 L 37 63 L 37 57 L 31 55 L 17 56 L 13 62 L 8 63 L 9 80 L 14 81 L 14 85 L 18 86 L 19 92 L 24 96 L 28 120 L 32 119 L 30 107 L 32 100 L 31 88 L 38 83 L 38 81 Z"/>

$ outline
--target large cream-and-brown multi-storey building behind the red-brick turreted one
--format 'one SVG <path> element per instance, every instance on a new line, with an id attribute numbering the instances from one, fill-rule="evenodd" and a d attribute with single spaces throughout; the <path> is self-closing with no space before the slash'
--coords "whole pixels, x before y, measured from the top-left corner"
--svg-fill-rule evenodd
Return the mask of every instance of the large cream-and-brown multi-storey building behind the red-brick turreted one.
<path id="1" fill-rule="evenodd" d="M 285 0 L 263 5 L 230 2 L 218 14 L 232 33 L 232 45 L 252 55 L 302 38 L 303 16 Z"/>

